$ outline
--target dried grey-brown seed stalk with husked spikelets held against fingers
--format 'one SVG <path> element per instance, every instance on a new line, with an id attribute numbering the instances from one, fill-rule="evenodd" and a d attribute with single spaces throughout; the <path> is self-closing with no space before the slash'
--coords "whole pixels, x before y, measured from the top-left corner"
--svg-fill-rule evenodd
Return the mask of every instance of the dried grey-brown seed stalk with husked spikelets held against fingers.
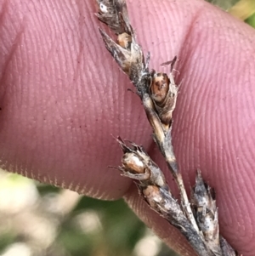
<path id="1" fill-rule="evenodd" d="M 142 48 L 136 42 L 129 23 L 125 0 L 97 0 L 97 3 L 97 17 L 116 34 L 116 38 L 112 39 L 105 31 L 99 30 L 105 48 L 137 90 L 153 129 L 156 145 L 178 185 L 180 202 L 173 197 L 161 169 L 143 148 L 134 143 L 127 146 L 120 137 L 116 140 L 122 147 L 123 156 L 122 166 L 118 169 L 123 176 L 135 180 L 141 196 L 150 208 L 178 228 L 198 255 L 237 255 L 224 238 L 219 236 L 218 208 L 210 188 L 201 178 L 201 173 L 197 172 L 189 201 L 182 175 L 178 171 L 171 137 L 173 110 L 178 95 L 178 87 L 173 77 L 173 65 L 177 58 L 162 64 L 171 64 L 169 76 L 166 73 L 149 71 L 150 54 L 144 60 Z"/>

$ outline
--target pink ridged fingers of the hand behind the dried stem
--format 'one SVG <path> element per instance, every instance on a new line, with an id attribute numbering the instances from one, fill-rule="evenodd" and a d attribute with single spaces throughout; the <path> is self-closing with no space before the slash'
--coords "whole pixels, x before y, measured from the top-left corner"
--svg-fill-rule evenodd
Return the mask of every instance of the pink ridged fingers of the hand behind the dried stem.
<path id="1" fill-rule="evenodd" d="M 195 169 L 217 191 L 220 230 L 255 251 L 255 31 L 202 1 L 127 1 L 150 67 L 178 56 L 182 82 L 173 146 L 187 187 Z M 132 139 L 164 169 L 139 98 L 99 37 L 94 1 L 0 0 L 0 159 L 3 168 L 88 196 L 124 196 L 182 255 L 184 238 L 139 199 L 113 136 Z M 141 15 L 142 11 L 142 15 Z"/>

